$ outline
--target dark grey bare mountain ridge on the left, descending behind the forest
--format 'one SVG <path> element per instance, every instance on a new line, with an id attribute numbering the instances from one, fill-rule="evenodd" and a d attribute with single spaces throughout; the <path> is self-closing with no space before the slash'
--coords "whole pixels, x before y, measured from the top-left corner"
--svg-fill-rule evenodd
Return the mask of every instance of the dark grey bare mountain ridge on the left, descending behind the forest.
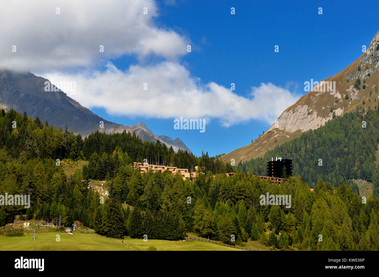
<path id="1" fill-rule="evenodd" d="M 75 134 L 80 133 L 82 136 L 96 130 L 107 134 L 126 130 L 132 134 L 135 132 L 143 141 L 160 140 L 168 147 L 172 146 L 175 152 L 179 148 L 191 152 L 179 138 L 172 140 L 164 135 L 153 134 L 143 122 L 132 126 L 117 124 L 94 114 L 63 91 L 46 92 L 46 81 L 49 80 L 37 77 L 30 72 L 0 70 L 0 108 L 26 111 L 28 116 L 39 117 L 42 122 L 47 120 L 50 125 L 56 125 L 57 128 L 60 126 L 64 128 L 67 124 L 71 131 Z M 103 121 L 104 128 L 100 128 L 100 121 Z"/>

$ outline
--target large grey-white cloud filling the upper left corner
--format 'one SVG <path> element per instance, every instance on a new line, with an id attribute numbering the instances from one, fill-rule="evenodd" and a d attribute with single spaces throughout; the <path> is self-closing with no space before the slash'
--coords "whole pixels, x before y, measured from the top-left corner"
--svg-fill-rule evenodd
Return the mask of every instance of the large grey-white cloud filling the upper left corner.
<path id="1" fill-rule="evenodd" d="M 0 0 L 0 6 L 0 68 L 65 70 L 123 54 L 156 54 L 174 61 L 190 44 L 155 26 L 153 0 Z"/>

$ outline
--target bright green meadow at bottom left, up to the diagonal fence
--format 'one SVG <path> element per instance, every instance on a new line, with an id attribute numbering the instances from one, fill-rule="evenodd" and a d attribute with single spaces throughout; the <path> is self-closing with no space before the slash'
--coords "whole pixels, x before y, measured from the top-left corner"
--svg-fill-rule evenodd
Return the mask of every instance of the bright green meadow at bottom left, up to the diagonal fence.
<path id="1" fill-rule="evenodd" d="M 56 241 L 56 235 L 60 235 L 60 241 Z M 74 233 L 36 233 L 36 240 L 33 241 L 34 233 L 25 233 L 25 237 L 5 237 L 0 236 L 0 250 L 49 250 L 49 251 L 77 251 L 77 250 L 117 250 L 132 251 L 125 244 L 111 240 L 110 238 L 98 234 Z"/>

